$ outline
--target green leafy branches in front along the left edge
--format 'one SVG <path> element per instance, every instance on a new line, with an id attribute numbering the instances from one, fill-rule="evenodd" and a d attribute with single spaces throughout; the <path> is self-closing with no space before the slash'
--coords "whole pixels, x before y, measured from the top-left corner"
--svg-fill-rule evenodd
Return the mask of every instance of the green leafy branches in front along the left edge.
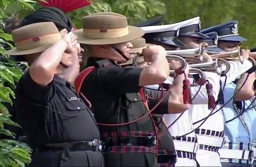
<path id="1" fill-rule="evenodd" d="M 5 33 L 4 19 L 9 18 L 13 13 L 19 10 L 33 10 L 33 4 L 36 1 L 32 0 L 1 0 L 0 1 L 0 42 L 13 47 L 10 44 L 12 37 Z M 12 6 L 10 8 L 10 6 Z M 9 10 L 13 9 L 13 10 Z M 0 44 L 0 134 L 7 135 L 14 138 L 15 134 L 5 129 L 5 124 L 18 126 L 17 123 L 12 122 L 10 114 L 4 103 L 12 105 L 12 98 L 14 95 L 15 84 L 22 76 L 22 70 L 13 62 L 8 55 L 4 54 L 5 48 Z M 31 161 L 31 149 L 18 141 L 0 139 L 0 167 L 23 167 Z"/>

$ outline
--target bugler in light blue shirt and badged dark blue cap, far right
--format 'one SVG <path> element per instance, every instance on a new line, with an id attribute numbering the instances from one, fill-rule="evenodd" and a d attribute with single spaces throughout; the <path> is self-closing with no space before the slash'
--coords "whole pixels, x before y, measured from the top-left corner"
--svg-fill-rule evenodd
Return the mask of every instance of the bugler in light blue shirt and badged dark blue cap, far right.
<path id="1" fill-rule="evenodd" d="M 224 51 L 232 51 L 239 47 L 239 45 L 241 44 L 240 42 L 246 40 L 245 38 L 238 35 L 237 30 L 238 30 L 238 22 L 233 20 L 233 21 L 219 24 L 217 26 L 206 28 L 201 32 L 203 33 L 205 32 L 208 33 L 211 31 L 217 32 L 218 47 L 223 49 Z M 229 61 L 231 68 L 226 75 L 226 81 L 224 81 L 225 80 L 224 76 L 221 77 L 221 80 L 223 83 L 222 85 L 225 85 L 223 89 L 224 104 L 227 103 L 228 100 L 232 97 L 234 101 L 241 101 L 241 100 L 249 99 L 250 97 L 253 96 L 253 94 L 250 93 L 250 91 L 252 92 L 251 85 L 254 81 L 255 76 L 253 77 L 254 74 L 250 74 L 250 76 L 248 77 L 248 80 L 246 81 L 247 73 L 244 73 L 252 66 L 251 63 L 247 60 L 249 55 L 248 50 L 243 50 L 243 55 L 246 58 L 244 60 L 244 63 L 241 64 L 239 61 Z M 240 75 L 241 75 L 240 80 L 237 81 L 236 84 L 234 84 L 233 81 Z M 242 86 L 244 82 L 246 83 L 243 85 L 242 89 L 238 92 L 238 89 Z M 223 107 L 224 107 L 222 109 L 223 122 L 226 122 L 232 119 L 236 115 L 237 111 L 233 109 L 233 100 Z M 244 161 L 243 159 L 245 157 L 241 156 L 242 152 L 243 153 L 250 152 L 248 151 L 249 150 L 248 144 L 246 144 L 246 143 L 249 143 L 248 132 L 246 131 L 247 128 L 243 127 L 242 122 L 239 122 L 238 124 L 237 123 L 238 123 L 237 121 L 225 123 L 224 136 L 227 142 L 225 144 L 223 143 L 224 145 L 222 146 L 222 148 L 218 150 L 220 154 L 222 166 L 235 166 L 235 165 L 243 166 L 243 164 L 233 164 L 228 162 L 245 163 L 247 161 L 247 160 Z M 237 133 L 237 129 L 239 129 L 238 133 Z M 238 141 L 241 141 L 241 143 L 239 143 Z M 235 154 L 233 154 L 232 149 L 237 149 L 235 150 L 236 151 Z M 243 151 L 242 150 L 240 151 L 238 149 L 242 149 Z M 239 158 L 241 159 L 238 160 Z M 246 158 L 249 158 L 249 157 L 246 157 Z M 237 160 L 232 160 L 232 159 L 237 159 Z"/>

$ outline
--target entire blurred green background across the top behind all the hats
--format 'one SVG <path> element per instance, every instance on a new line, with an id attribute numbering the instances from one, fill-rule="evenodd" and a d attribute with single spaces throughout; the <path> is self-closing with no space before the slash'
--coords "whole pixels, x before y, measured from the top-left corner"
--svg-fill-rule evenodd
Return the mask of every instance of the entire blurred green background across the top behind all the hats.
<path id="1" fill-rule="evenodd" d="M 72 1 L 72 0 L 70 0 Z M 244 48 L 256 45 L 256 0 L 94 0 L 87 6 L 68 13 L 76 28 L 81 19 L 90 13 L 112 11 L 128 17 L 129 24 L 163 15 L 164 23 L 175 23 L 195 16 L 201 17 L 201 27 L 206 28 L 230 20 L 239 21 L 239 33 L 248 39 Z M 38 4 L 34 5 L 39 8 Z M 8 6 L 8 12 L 19 13 L 22 18 L 31 11 Z"/>

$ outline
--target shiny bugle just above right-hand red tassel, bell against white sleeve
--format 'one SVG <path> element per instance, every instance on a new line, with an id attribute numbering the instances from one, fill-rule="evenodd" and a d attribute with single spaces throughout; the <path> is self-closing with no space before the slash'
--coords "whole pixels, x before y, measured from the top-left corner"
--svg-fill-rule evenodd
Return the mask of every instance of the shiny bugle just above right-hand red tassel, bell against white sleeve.
<path id="1" fill-rule="evenodd" d="M 222 72 L 222 64 L 226 66 L 226 69 L 223 72 Z M 225 75 L 230 70 L 229 62 L 223 58 L 216 58 L 216 60 L 214 60 L 213 62 L 189 64 L 188 66 L 191 68 L 200 69 L 202 71 L 215 72 L 218 75 L 220 74 Z"/>

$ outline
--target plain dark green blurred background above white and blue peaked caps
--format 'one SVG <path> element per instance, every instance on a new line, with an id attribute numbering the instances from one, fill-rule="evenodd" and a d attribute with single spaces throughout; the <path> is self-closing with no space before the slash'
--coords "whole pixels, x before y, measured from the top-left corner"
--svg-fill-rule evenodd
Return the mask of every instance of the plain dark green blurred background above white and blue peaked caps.
<path id="1" fill-rule="evenodd" d="M 200 16 L 202 28 L 211 27 L 226 21 L 239 21 L 239 34 L 248 39 L 243 48 L 255 47 L 256 19 L 254 0 L 160 0 L 168 11 L 165 23 L 175 23 Z"/>

